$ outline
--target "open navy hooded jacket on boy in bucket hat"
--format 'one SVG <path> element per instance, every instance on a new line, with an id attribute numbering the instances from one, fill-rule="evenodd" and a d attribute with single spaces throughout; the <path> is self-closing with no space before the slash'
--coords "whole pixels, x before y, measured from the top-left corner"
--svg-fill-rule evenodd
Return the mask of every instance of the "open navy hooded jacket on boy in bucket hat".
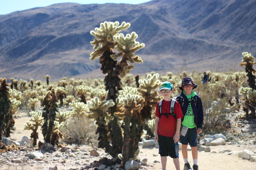
<path id="1" fill-rule="evenodd" d="M 182 106 L 182 101 L 181 101 L 181 97 L 182 96 L 184 98 L 184 103 Z M 204 120 L 204 110 L 203 110 L 203 104 L 202 104 L 202 100 L 201 98 L 198 96 L 198 94 L 196 94 L 194 97 L 192 97 L 192 99 L 195 98 L 196 99 L 196 104 L 195 102 L 191 102 L 191 107 L 193 110 L 193 114 L 194 114 L 194 123 L 196 124 L 196 128 L 201 128 L 203 129 L 203 120 Z M 184 116 L 187 113 L 188 110 L 188 98 L 185 96 L 184 92 L 182 91 L 180 93 L 179 96 L 177 96 L 176 100 L 180 103 L 180 107 L 183 113 L 183 117 L 181 118 L 181 122 L 184 120 Z"/>

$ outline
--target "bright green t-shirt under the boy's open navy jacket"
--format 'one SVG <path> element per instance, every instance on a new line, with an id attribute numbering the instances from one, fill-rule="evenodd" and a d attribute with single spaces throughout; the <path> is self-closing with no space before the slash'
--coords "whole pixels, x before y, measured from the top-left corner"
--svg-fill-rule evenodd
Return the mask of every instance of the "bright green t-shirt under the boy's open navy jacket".
<path id="1" fill-rule="evenodd" d="M 185 92 L 183 91 L 183 93 L 185 94 Z M 192 91 L 192 93 L 190 95 L 186 95 L 185 96 L 188 98 L 188 101 L 191 101 L 191 98 L 194 97 L 196 95 L 196 92 Z M 181 123 L 183 126 L 186 126 L 188 128 L 195 128 L 196 124 L 194 123 L 194 114 L 193 114 L 193 110 L 191 107 L 191 103 L 188 103 L 188 109 L 186 112 L 186 115 L 184 116 L 184 120 Z"/>

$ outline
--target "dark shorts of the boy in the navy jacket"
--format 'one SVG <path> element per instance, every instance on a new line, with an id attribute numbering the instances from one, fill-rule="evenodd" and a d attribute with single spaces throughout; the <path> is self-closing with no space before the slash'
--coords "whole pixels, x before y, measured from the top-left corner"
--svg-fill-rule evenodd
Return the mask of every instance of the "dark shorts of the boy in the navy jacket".
<path id="1" fill-rule="evenodd" d="M 188 128 L 188 131 L 184 136 L 180 135 L 180 142 L 181 144 L 188 144 L 191 146 L 191 147 L 195 147 L 197 146 L 197 142 L 196 142 L 196 138 L 197 138 L 197 132 L 196 132 L 196 128 Z"/>

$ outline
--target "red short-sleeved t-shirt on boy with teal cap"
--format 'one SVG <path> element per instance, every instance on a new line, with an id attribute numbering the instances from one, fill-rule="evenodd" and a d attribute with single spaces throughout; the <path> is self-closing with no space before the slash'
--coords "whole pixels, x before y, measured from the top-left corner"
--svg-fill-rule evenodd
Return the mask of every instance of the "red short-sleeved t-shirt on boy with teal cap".
<path id="1" fill-rule="evenodd" d="M 158 104 L 159 102 L 156 104 L 156 117 L 160 117 L 160 113 L 158 111 Z M 162 113 L 170 113 L 170 105 L 171 105 L 171 101 L 163 100 Z M 177 119 L 183 117 L 182 110 L 180 108 L 180 103 L 178 101 L 176 101 L 175 103 L 173 112 L 176 115 Z M 176 126 L 177 126 L 177 121 L 172 115 L 168 115 L 168 118 L 167 116 L 162 115 L 158 122 L 157 133 L 159 135 L 163 135 L 166 137 L 173 137 L 176 133 Z"/>

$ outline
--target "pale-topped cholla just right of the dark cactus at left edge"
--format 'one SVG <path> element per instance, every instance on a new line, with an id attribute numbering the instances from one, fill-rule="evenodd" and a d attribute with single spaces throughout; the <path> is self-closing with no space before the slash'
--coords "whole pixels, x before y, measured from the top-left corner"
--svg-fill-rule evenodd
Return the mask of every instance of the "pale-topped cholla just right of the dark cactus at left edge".
<path id="1" fill-rule="evenodd" d="M 21 104 L 21 102 L 19 100 L 11 99 L 11 98 L 9 98 L 9 100 L 12 102 L 12 104 L 11 104 L 11 106 L 9 108 L 9 114 L 6 117 L 6 120 L 5 120 L 5 124 L 6 124 L 6 129 L 4 131 L 4 136 L 5 137 L 10 137 L 11 128 L 15 124 L 15 121 L 13 119 L 13 115 L 17 112 L 18 107 Z"/>

